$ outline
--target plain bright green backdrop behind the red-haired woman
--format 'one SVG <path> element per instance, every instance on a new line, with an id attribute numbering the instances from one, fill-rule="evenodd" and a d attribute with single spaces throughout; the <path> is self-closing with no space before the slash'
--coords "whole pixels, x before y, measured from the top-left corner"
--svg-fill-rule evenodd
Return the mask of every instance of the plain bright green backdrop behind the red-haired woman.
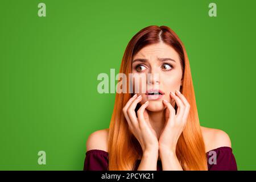
<path id="1" fill-rule="evenodd" d="M 46 3 L 46 17 L 38 3 Z M 217 17 L 209 17 L 209 3 Z M 256 1 L 0 2 L 0 169 L 82 170 L 86 139 L 109 127 L 115 94 L 99 73 L 119 71 L 131 37 L 171 27 L 189 56 L 202 126 L 224 130 L 238 169 L 256 169 Z M 46 151 L 46 165 L 38 151 Z"/>

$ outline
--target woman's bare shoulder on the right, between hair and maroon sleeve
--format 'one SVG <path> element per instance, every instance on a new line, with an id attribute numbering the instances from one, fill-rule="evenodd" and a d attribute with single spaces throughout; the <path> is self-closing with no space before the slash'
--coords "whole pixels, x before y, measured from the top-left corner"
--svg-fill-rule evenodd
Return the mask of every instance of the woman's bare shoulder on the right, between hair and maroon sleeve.
<path id="1" fill-rule="evenodd" d="M 202 135 L 205 143 L 205 151 L 208 152 L 219 147 L 232 147 L 229 135 L 219 129 L 210 129 L 201 126 Z"/>

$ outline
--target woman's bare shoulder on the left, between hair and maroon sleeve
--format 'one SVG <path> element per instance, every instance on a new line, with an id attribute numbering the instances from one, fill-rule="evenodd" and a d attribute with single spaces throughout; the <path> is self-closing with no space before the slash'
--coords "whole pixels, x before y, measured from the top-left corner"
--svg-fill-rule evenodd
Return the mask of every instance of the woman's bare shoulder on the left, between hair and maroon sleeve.
<path id="1" fill-rule="evenodd" d="M 90 134 L 86 141 L 86 151 L 97 149 L 108 152 L 108 134 L 109 129 L 97 130 Z"/>

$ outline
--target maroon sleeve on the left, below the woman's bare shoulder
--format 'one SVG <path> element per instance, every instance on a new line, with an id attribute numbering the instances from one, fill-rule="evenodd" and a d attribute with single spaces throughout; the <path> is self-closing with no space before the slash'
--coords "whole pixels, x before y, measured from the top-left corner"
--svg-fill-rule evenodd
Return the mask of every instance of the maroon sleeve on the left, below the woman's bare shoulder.
<path id="1" fill-rule="evenodd" d="M 102 150 L 87 151 L 84 171 L 108 171 L 108 152 Z"/>

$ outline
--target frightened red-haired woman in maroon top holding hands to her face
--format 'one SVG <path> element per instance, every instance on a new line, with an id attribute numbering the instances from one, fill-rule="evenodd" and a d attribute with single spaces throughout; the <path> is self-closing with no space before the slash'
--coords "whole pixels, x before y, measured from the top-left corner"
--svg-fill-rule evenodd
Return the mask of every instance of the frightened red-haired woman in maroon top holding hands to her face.
<path id="1" fill-rule="evenodd" d="M 86 142 L 85 170 L 237 170 L 229 136 L 200 126 L 187 53 L 171 28 L 133 36 L 120 73 L 133 73 L 127 82 L 139 92 L 116 94 L 109 129 Z"/>

